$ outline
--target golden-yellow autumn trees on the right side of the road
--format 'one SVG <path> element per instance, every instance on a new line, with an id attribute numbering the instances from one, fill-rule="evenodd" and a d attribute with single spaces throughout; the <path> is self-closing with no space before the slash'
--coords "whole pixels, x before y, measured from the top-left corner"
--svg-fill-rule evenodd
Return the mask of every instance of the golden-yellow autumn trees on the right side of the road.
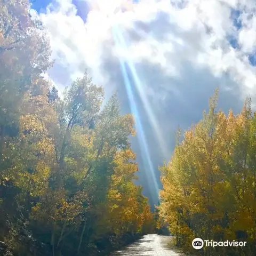
<path id="1" fill-rule="evenodd" d="M 234 116 L 230 110 L 226 117 L 215 111 L 216 93 L 209 113 L 185 133 L 169 164 L 161 168 L 160 215 L 177 245 L 187 250 L 195 237 L 255 241 L 255 117 L 250 104 L 247 99 L 241 114 Z M 216 250 L 218 255 L 227 253 Z"/>

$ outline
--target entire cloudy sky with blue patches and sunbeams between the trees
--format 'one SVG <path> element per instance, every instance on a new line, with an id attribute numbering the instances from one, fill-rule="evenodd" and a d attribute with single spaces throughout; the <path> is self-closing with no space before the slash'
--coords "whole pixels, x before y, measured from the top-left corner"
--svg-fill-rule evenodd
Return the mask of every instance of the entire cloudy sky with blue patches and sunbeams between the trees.
<path id="1" fill-rule="evenodd" d="M 151 204 L 161 189 L 158 166 L 170 160 L 178 126 L 202 118 L 219 87 L 218 107 L 255 108 L 254 0 L 34 0 L 30 13 L 47 28 L 60 93 L 85 69 L 117 90 L 135 117 L 139 183 Z"/>

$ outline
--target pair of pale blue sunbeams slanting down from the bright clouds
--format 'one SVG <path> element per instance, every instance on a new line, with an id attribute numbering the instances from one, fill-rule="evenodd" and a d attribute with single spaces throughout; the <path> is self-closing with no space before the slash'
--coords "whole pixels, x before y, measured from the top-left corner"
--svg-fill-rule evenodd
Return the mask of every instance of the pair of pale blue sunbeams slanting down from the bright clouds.
<path id="1" fill-rule="evenodd" d="M 115 17 L 115 14 L 122 12 L 122 11 L 130 11 L 132 10 L 132 2 L 133 1 L 121 1 L 121 0 L 115 0 L 111 1 L 111 4 L 107 4 L 104 1 L 90 1 L 91 7 L 94 10 L 100 10 L 102 14 L 106 15 L 107 19 L 111 20 Z M 112 26 L 112 34 L 114 38 L 115 45 L 117 47 L 121 47 L 124 51 L 128 49 L 127 42 L 125 41 L 125 38 L 123 37 L 123 33 L 121 29 L 117 26 Z M 142 152 L 143 157 L 143 164 L 146 167 L 146 169 L 149 170 L 149 173 L 147 173 L 149 180 L 153 180 L 154 183 L 154 197 L 158 195 L 158 182 L 154 171 L 154 166 L 151 161 L 149 149 L 148 149 L 148 143 L 147 138 L 145 136 L 145 132 L 143 131 L 143 126 L 141 123 L 141 118 L 139 115 L 138 108 L 136 106 L 135 98 L 134 98 L 134 90 L 138 92 L 139 97 L 143 103 L 143 107 L 146 111 L 147 118 L 149 119 L 149 122 L 151 126 L 154 129 L 156 139 L 158 140 L 160 149 L 162 151 L 162 154 L 164 156 L 167 156 L 167 147 L 165 144 L 165 141 L 162 137 L 161 131 L 159 130 L 159 125 L 157 122 L 157 119 L 155 117 L 154 111 L 150 106 L 150 103 L 147 99 L 147 96 L 145 95 L 145 92 L 147 90 L 146 85 L 141 81 L 142 77 L 140 77 L 137 73 L 137 70 L 135 69 L 134 63 L 127 57 L 124 56 L 118 56 L 120 65 L 121 65 L 121 71 L 125 83 L 126 93 L 129 98 L 130 107 L 132 110 L 132 113 L 135 117 L 135 125 L 137 127 L 138 131 L 138 140 L 139 145 Z M 129 77 L 129 73 L 131 74 Z M 132 80 L 132 81 L 131 81 Z M 132 88 L 132 84 L 134 85 L 134 88 Z"/>

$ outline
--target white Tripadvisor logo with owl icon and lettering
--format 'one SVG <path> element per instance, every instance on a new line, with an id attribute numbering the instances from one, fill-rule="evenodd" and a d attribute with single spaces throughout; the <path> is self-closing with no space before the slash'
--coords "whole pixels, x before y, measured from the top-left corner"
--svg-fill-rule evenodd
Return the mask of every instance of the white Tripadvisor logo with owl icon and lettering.
<path id="1" fill-rule="evenodd" d="M 203 248 L 203 246 L 211 246 L 211 247 L 216 247 L 216 246 L 245 246 L 246 245 L 246 242 L 238 242 L 238 241 L 220 241 L 220 242 L 216 242 L 216 241 L 213 241 L 213 240 L 202 240 L 201 238 L 195 238 L 193 241 L 192 241 L 192 246 L 194 249 L 196 250 L 199 250 L 201 248 Z"/>

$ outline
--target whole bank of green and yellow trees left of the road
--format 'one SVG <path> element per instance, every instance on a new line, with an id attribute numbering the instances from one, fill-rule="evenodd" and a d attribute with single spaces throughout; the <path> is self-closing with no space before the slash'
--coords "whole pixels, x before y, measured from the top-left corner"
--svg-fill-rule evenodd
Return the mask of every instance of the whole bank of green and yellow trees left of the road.
<path id="1" fill-rule="evenodd" d="M 49 57 L 28 1 L 0 0 L 0 240 L 15 255 L 95 255 L 151 228 L 134 121 L 116 95 L 101 106 L 86 72 L 61 99 L 41 76 Z"/>

